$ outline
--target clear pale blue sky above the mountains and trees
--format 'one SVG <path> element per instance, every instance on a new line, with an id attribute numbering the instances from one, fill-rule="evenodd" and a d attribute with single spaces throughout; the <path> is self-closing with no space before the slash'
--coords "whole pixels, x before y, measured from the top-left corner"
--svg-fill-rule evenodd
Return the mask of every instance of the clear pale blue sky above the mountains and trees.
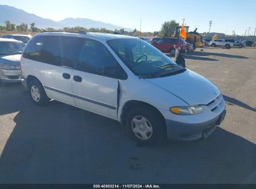
<path id="1" fill-rule="evenodd" d="M 253 34 L 256 27 L 255 0 L 0 0 L 0 4 L 14 6 L 37 16 L 59 21 L 65 17 L 85 17 L 95 21 L 107 22 L 131 29 L 153 32 L 160 30 L 164 21 L 176 20 L 196 27 L 199 32 L 209 30 L 244 35 L 249 27 Z"/>

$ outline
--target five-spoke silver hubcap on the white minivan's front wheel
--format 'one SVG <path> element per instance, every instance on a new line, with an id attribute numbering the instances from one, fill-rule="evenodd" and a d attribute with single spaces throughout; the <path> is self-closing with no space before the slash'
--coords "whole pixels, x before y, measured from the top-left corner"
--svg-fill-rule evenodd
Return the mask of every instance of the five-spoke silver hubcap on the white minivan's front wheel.
<path id="1" fill-rule="evenodd" d="M 143 141 L 150 139 L 153 135 L 153 127 L 144 116 L 135 116 L 131 120 L 131 131 Z"/>

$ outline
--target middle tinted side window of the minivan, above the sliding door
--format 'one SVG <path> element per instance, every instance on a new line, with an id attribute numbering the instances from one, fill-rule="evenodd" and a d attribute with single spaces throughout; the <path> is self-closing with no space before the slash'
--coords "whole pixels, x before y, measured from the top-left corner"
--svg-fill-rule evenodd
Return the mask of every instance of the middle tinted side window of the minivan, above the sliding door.
<path id="1" fill-rule="evenodd" d="M 78 37 L 46 36 L 40 62 L 50 65 L 73 68 L 75 56 L 78 55 L 81 40 Z"/>

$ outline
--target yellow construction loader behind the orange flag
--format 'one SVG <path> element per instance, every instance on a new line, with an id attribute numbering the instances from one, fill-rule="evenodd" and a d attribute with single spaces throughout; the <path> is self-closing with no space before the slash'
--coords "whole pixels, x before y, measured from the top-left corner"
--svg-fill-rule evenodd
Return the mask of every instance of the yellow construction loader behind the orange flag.
<path id="1" fill-rule="evenodd" d="M 196 32 L 197 28 L 194 30 L 194 32 L 189 32 L 189 26 L 185 25 L 184 29 L 187 34 L 186 42 L 188 42 L 189 44 L 193 44 L 194 48 L 200 48 L 204 46 L 201 35 Z M 180 31 L 181 31 L 181 26 L 175 27 L 174 37 L 180 37 L 179 36 Z"/>

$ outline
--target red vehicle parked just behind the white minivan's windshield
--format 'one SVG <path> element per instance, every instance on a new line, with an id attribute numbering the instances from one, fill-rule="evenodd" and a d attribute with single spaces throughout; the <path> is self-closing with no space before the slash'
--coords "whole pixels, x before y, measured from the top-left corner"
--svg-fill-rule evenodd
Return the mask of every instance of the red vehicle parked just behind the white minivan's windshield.
<path id="1" fill-rule="evenodd" d="M 171 55 L 175 55 L 174 45 L 180 47 L 181 52 L 186 52 L 187 50 L 186 41 L 180 38 L 165 37 L 157 42 L 153 42 L 152 45 L 161 50 L 161 52 L 169 52 Z"/>

